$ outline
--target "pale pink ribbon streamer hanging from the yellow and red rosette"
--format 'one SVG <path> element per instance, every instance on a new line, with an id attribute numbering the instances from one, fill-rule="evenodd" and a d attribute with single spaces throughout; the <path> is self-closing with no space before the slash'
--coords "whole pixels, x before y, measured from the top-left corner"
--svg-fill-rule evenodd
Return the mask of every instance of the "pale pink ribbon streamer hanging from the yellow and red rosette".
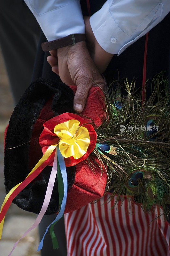
<path id="1" fill-rule="evenodd" d="M 52 190 L 53 190 L 53 187 L 54 187 L 54 182 L 55 182 L 55 179 L 56 179 L 56 175 L 57 175 L 57 149 L 56 149 L 56 152 L 55 152 L 54 163 L 53 163 L 52 171 L 51 171 L 51 174 L 50 174 L 50 179 L 49 179 L 49 182 L 48 182 L 47 191 L 46 191 L 46 194 L 45 194 L 45 198 L 44 198 L 44 202 L 43 202 L 43 206 L 41 208 L 41 211 L 38 214 L 34 224 L 31 226 L 31 228 L 29 228 L 24 233 L 24 235 L 14 244 L 13 249 L 12 249 L 12 251 L 10 252 L 10 254 L 8 256 L 10 256 L 12 254 L 13 250 L 16 248 L 19 241 L 24 236 L 26 236 L 29 233 L 29 231 L 36 228 L 40 224 L 40 221 L 42 220 L 42 218 L 43 218 L 43 216 L 44 216 L 44 214 L 45 214 L 45 212 L 48 208 L 48 205 L 50 203 L 51 194 L 52 194 Z"/>

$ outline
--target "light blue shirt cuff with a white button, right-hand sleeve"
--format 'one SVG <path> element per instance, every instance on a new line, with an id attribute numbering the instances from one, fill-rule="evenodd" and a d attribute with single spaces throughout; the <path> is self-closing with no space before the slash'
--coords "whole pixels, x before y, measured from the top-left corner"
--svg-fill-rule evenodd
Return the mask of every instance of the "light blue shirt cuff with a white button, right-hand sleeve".
<path id="1" fill-rule="evenodd" d="M 134 39 L 120 29 L 113 20 L 108 1 L 90 17 L 90 25 L 100 46 L 112 54 L 117 54 L 124 44 Z"/>

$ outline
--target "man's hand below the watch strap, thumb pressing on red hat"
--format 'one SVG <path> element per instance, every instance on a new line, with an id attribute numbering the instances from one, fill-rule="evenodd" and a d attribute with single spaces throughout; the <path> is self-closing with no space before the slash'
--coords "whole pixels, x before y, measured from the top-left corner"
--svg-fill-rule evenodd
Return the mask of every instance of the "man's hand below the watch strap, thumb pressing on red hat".
<path id="1" fill-rule="evenodd" d="M 52 71 L 60 76 L 63 83 L 76 85 L 73 108 L 80 113 L 87 100 L 91 86 L 104 88 L 104 79 L 90 57 L 85 41 L 50 51 L 47 61 Z"/>

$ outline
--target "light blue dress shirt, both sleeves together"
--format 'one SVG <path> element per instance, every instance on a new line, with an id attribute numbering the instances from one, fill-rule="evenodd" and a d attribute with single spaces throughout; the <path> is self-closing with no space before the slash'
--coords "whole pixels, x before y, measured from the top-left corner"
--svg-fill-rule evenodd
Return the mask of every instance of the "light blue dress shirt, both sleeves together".
<path id="1" fill-rule="evenodd" d="M 85 33 L 80 0 L 24 0 L 48 41 L 70 34 Z M 120 54 L 170 11 L 170 0 L 107 0 L 90 17 L 100 46 Z M 168 28 L 167 28 L 168 29 Z"/>

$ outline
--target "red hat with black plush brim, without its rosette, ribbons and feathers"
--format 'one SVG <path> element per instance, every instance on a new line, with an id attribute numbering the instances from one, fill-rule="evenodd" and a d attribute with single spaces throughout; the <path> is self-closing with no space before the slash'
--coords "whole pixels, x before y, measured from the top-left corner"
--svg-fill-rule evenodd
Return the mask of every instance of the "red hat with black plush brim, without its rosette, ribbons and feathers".
<path id="1" fill-rule="evenodd" d="M 39 145 L 39 136 L 43 131 L 43 123 L 65 112 L 73 113 L 73 96 L 76 86 L 67 86 L 59 82 L 37 79 L 33 82 L 13 111 L 5 137 L 4 177 L 8 193 L 15 185 L 22 182 L 35 164 L 43 156 Z M 81 116 L 92 122 L 95 127 L 102 122 L 104 104 L 100 89 L 91 88 L 88 100 Z M 95 111 L 94 111 L 95 109 Z M 84 119 L 84 116 L 82 118 Z M 92 120 L 92 119 L 93 120 Z M 68 179 L 68 194 L 65 212 L 81 208 L 89 202 L 99 199 L 104 194 L 107 175 L 97 164 L 98 160 L 91 158 L 95 173 L 86 161 L 66 167 Z M 39 213 L 45 197 L 50 177 L 51 166 L 44 170 L 24 188 L 13 200 L 20 208 Z M 57 178 L 46 214 L 58 212 Z"/>

